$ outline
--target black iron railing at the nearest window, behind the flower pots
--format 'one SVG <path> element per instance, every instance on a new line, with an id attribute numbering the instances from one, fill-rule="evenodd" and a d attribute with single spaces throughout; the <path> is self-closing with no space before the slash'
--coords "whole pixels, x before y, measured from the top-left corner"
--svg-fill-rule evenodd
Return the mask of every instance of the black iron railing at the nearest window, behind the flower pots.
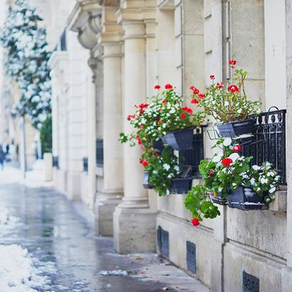
<path id="1" fill-rule="evenodd" d="M 254 116 L 254 135 L 249 141 L 242 139 L 242 154 L 253 156 L 252 165 L 272 163 L 282 178 L 281 184 L 286 184 L 286 110 L 271 109 Z"/>

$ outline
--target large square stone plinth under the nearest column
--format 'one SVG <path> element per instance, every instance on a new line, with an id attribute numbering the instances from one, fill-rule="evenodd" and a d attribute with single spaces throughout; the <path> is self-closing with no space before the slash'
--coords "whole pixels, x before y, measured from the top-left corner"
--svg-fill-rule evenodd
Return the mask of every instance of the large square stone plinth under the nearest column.
<path id="1" fill-rule="evenodd" d="M 118 253 L 156 252 L 156 212 L 150 208 L 116 207 L 114 247 Z"/>

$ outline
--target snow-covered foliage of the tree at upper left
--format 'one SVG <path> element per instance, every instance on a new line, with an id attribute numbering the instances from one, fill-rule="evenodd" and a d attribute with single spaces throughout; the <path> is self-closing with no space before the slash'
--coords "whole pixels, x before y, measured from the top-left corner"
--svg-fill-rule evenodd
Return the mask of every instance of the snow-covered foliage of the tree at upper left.
<path id="1" fill-rule="evenodd" d="M 51 51 L 42 19 L 26 0 L 10 5 L 0 41 L 5 49 L 6 73 L 17 82 L 22 96 L 13 112 L 39 127 L 51 112 Z M 13 113 L 12 112 L 12 113 Z"/>

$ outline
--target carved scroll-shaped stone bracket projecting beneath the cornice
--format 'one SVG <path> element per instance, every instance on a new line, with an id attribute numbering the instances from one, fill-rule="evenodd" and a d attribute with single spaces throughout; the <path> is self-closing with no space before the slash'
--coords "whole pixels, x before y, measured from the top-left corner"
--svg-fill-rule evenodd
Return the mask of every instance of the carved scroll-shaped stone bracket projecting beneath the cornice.
<path id="1" fill-rule="evenodd" d="M 97 44 L 101 11 L 102 7 L 96 0 L 78 0 L 68 18 L 69 29 L 78 32 L 79 43 L 86 49 L 92 49 Z"/>

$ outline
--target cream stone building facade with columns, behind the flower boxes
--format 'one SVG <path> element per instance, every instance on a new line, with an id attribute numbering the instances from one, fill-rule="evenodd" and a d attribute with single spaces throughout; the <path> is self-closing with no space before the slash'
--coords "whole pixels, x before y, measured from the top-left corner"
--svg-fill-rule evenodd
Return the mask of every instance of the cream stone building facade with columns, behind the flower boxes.
<path id="1" fill-rule="evenodd" d="M 259 280 L 260 291 L 291 291 L 290 0 L 33 3 L 57 48 L 50 60 L 54 183 L 92 208 L 97 234 L 113 236 L 119 253 L 162 253 L 211 291 L 244 291 L 244 273 Z M 211 74 L 229 80 L 229 58 L 248 71 L 246 91 L 263 111 L 287 109 L 287 187 L 267 211 L 221 207 L 219 218 L 194 227 L 184 195 L 159 198 L 143 189 L 138 149 L 118 136 L 155 84 L 170 82 L 186 96 L 193 83 L 208 86 Z M 205 158 L 212 127 L 204 129 Z"/>

